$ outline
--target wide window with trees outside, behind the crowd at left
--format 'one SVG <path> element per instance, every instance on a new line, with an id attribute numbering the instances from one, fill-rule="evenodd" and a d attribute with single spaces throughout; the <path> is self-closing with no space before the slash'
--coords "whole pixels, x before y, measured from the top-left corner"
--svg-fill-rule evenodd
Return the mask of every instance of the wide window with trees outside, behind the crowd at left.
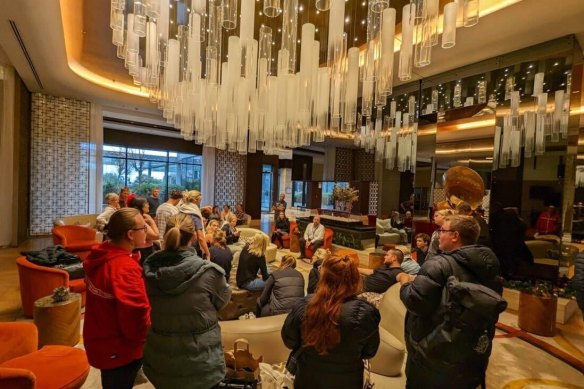
<path id="1" fill-rule="evenodd" d="M 124 186 L 146 197 L 153 187 L 167 198 L 173 189 L 201 188 L 201 156 L 174 151 L 103 146 L 103 194 Z"/>

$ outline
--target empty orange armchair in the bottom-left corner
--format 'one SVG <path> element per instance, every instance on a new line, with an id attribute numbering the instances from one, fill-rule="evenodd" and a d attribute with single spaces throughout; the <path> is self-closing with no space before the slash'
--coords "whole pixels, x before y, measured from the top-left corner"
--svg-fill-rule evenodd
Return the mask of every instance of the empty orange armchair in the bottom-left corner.
<path id="1" fill-rule="evenodd" d="M 0 323 L 0 387 L 3 389 L 76 389 L 89 374 L 82 349 L 45 346 L 37 350 L 33 323 Z"/>

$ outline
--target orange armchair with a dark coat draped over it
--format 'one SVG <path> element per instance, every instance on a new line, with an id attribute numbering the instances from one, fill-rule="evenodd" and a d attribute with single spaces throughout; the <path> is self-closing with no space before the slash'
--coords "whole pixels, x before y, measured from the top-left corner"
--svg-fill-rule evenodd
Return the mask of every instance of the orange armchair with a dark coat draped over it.
<path id="1" fill-rule="evenodd" d="M 72 292 L 81 294 L 81 305 L 85 306 L 86 286 L 83 279 L 69 280 L 69 273 L 65 270 L 35 265 L 26 257 L 16 258 L 16 265 L 24 316 L 32 317 L 34 302 L 53 294 L 53 289 L 59 286 L 66 286 Z"/>

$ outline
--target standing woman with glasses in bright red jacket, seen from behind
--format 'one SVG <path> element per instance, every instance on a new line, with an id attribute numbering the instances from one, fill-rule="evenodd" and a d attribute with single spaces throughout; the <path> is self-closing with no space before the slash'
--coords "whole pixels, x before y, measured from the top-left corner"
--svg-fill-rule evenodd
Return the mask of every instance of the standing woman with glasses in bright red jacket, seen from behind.
<path id="1" fill-rule="evenodd" d="M 142 366 L 150 304 L 140 255 L 132 250 L 146 243 L 146 222 L 134 208 L 110 218 L 110 241 L 94 248 L 85 260 L 87 302 L 83 342 L 91 366 L 101 370 L 104 389 L 132 388 Z"/>

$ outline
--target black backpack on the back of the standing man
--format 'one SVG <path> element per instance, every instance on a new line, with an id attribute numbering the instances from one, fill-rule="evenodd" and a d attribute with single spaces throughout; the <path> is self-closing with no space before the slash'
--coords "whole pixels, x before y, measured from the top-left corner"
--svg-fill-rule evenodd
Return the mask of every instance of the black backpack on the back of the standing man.
<path id="1" fill-rule="evenodd" d="M 493 329 L 499 314 L 507 308 L 503 297 L 478 283 L 469 270 L 453 258 L 448 260 L 452 273 L 442 290 L 442 299 L 434 323 L 436 327 L 414 347 L 426 359 L 446 366 L 463 361 L 488 359 Z"/>

